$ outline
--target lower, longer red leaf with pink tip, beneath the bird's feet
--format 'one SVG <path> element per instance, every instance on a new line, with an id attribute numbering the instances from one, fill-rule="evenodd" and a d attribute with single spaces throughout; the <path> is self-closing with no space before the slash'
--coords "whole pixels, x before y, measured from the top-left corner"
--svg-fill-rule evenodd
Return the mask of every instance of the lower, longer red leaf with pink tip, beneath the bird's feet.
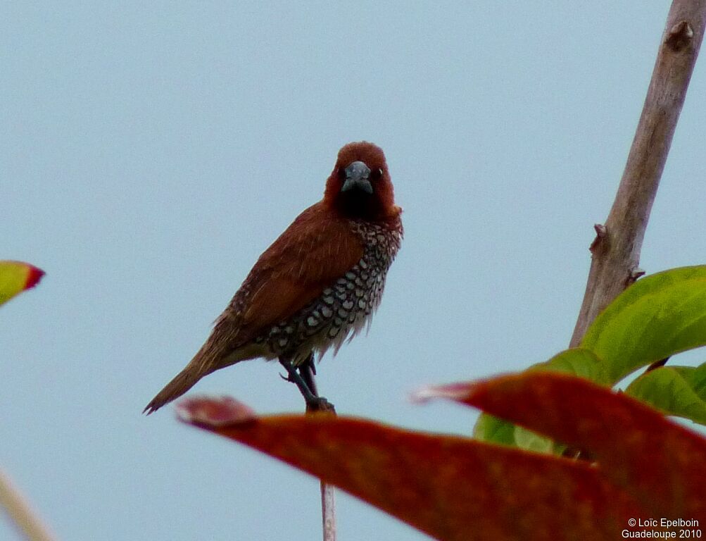
<path id="1" fill-rule="evenodd" d="M 443 540 L 615 539 L 640 516 L 585 463 L 347 417 L 255 417 L 234 400 L 178 408 Z"/>

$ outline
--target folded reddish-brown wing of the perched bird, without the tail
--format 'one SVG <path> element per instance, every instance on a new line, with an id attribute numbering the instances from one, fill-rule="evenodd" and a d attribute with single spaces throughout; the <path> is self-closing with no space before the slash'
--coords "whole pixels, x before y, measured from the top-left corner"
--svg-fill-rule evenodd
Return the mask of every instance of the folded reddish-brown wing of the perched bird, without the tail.
<path id="1" fill-rule="evenodd" d="M 362 256 L 363 243 L 348 220 L 321 203 L 304 210 L 260 256 L 234 297 L 231 313 L 239 331 L 232 346 L 296 314 Z"/>

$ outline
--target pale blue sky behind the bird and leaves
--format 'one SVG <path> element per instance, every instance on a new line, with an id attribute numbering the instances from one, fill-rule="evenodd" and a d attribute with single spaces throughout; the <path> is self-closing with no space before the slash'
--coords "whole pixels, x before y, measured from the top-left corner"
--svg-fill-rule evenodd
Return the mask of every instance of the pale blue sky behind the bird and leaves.
<path id="1" fill-rule="evenodd" d="M 0 258 L 47 276 L 0 310 L 0 467 L 65 540 L 318 539 L 316 480 L 145 404 L 367 139 L 406 236 L 371 333 L 318 384 L 340 414 L 469 433 L 474 412 L 407 394 L 568 345 L 668 8 L 4 3 Z M 704 64 L 648 272 L 706 260 Z M 277 373 L 246 362 L 192 394 L 302 410 Z M 345 495 L 337 511 L 341 540 L 426 538 Z"/>

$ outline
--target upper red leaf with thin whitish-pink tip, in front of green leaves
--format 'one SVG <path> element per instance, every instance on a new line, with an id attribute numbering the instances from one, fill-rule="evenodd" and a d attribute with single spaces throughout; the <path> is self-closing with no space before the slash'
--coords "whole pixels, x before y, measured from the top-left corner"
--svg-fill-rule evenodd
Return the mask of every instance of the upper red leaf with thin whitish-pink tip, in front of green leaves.
<path id="1" fill-rule="evenodd" d="M 433 397 L 473 405 L 588 451 L 646 516 L 706 521 L 706 439 L 633 398 L 548 372 L 429 387 L 417 395 Z"/>

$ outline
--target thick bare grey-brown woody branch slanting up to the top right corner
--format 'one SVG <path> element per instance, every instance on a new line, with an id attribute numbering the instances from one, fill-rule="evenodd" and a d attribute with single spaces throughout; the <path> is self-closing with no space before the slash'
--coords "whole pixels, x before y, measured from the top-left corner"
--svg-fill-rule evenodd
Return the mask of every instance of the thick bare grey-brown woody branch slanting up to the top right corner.
<path id="1" fill-rule="evenodd" d="M 606 224 L 596 226 L 591 268 L 571 347 L 579 345 L 600 311 L 644 274 L 639 268 L 642 239 L 698 57 L 705 21 L 706 0 L 672 2 L 618 193 Z"/>

